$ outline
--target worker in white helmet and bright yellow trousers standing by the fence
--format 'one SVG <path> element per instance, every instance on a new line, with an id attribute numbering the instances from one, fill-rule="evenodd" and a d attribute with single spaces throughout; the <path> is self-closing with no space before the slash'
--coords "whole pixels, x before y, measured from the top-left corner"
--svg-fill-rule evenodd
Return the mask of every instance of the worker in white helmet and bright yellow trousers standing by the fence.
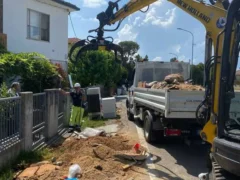
<path id="1" fill-rule="evenodd" d="M 81 122 L 83 119 L 83 101 L 84 101 L 84 92 L 81 90 L 80 83 L 74 84 L 74 91 L 70 93 L 72 98 L 72 113 L 69 123 L 69 132 L 81 131 Z"/>

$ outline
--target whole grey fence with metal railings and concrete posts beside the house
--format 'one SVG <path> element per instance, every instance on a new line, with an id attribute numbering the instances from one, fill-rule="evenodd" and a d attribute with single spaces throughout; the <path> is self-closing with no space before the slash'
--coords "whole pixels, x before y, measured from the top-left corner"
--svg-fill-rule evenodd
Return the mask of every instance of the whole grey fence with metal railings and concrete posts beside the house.
<path id="1" fill-rule="evenodd" d="M 22 150 L 42 147 L 68 124 L 70 96 L 56 89 L 0 99 L 0 168 Z"/>

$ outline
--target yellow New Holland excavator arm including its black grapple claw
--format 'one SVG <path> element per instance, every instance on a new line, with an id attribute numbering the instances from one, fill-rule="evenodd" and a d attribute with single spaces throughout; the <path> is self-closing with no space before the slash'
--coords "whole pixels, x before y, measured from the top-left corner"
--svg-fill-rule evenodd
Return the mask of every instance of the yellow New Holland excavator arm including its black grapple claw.
<path id="1" fill-rule="evenodd" d="M 115 57 L 120 52 L 121 57 L 123 57 L 123 51 L 119 45 L 113 44 L 112 41 L 107 41 L 104 37 L 105 31 L 115 31 L 117 30 L 121 22 L 128 17 L 129 15 L 142 11 L 143 8 L 150 6 L 151 4 L 157 2 L 157 0 L 130 0 L 126 5 L 124 5 L 121 9 L 119 9 L 118 3 L 120 0 L 116 2 L 109 2 L 108 8 L 106 11 L 101 12 L 97 15 L 97 19 L 99 20 L 99 27 L 94 30 L 90 30 L 91 32 L 96 32 L 97 36 L 89 36 L 92 40 L 82 40 L 79 42 L 79 46 L 73 46 L 70 50 L 70 60 L 72 62 L 79 59 L 81 53 L 88 50 L 108 50 L 114 51 Z M 214 87 L 211 89 L 209 85 L 209 94 L 205 97 L 205 102 L 208 102 L 207 106 L 211 109 L 211 115 L 208 115 L 208 119 L 203 123 L 204 129 L 201 133 L 202 138 L 212 144 L 214 137 L 216 136 L 216 122 L 214 119 L 215 115 L 218 114 L 218 96 L 219 96 L 219 84 L 220 84 L 220 61 L 221 58 L 219 56 L 212 57 L 212 45 L 214 47 L 214 52 L 216 54 L 222 54 L 222 48 L 217 48 L 218 44 L 222 44 L 223 37 L 219 36 L 219 34 L 224 30 L 225 26 L 225 17 L 226 17 L 226 9 L 229 6 L 228 0 L 211 0 L 211 4 L 206 4 L 202 0 L 168 0 L 172 4 L 176 5 L 199 22 L 201 22 L 206 28 L 206 57 L 205 63 L 208 63 L 209 60 L 214 60 L 214 75 L 212 76 L 214 81 Z M 115 29 L 109 30 L 105 29 L 105 26 L 111 26 L 115 23 L 118 23 Z M 111 38 L 111 37 L 108 37 Z M 208 43 L 211 42 L 211 43 Z M 84 46 L 81 46 L 84 45 Z M 72 57 L 73 51 L 77 48 L 81 47 L 78 50 L 77 56 Z M 117 58 L 116 58 L 117 59 Z M 199 108 L 200 109 L 200 108 Z M 207 113 L 209 114 L 209 113 Z M 211 117 L 211 118 L 210 118 Z"/>

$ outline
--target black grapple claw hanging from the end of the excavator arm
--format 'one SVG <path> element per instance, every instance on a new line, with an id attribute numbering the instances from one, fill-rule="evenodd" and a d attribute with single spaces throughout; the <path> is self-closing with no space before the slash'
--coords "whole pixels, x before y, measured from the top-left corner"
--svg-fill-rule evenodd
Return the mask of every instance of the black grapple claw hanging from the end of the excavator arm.
<path id="1" fill-rule="evenodd" d="M 120 22 L 118 27 L 113 30 L 104 29 L 106 25 L 109 25 L 109 20 L 114 16 L 114 10 L 118 11 L 118 1 L 108 3 L 108 8 L 105 12 L 101 12 L 97 15 L 97 19 L 99 20 L 99 27 L 97 29 L 90 30 L 89 33 L 96 32 L 97 36 L 88 36 L 85 40 L 80 40 L 76 42 L 69 51 L 69 59 L 71 62 L 76 62 L 82 53 L 87 51 L 95 51 L 95 50 L 105 50 L 105 51 L 113 51 L 115 55 L 115 60 L 119 61 L 123 59 L 123 49 L 113 43 L 112 37 L 104 37 L 105 31 L 115 31 L 120 26 Z M 74 52 L 76 51 L 76 55 L 74 56 Z M 120 58 L 120 59 L 119 59 Z"/>

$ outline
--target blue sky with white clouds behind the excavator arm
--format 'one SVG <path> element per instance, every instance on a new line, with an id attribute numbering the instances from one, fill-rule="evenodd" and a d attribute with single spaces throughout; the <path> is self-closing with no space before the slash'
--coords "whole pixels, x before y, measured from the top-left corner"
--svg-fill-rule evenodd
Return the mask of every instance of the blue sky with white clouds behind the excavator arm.
<path id="1" fill-rule="evenodd" d="M 107 0 L 66 0 L 81 8 L 71 13 L 76 37 L 86 39 L 88 30 L 95 29 L 99 23 L 98 13 L 105 11 Z M 120 7 L 129 0 L 122 0 Z M 68 23 L 68 37 L 75 37 L 70 17 Z M 115 26 L 108 27 L 113 29 Z M 183 28 L 194 34 L 194 64 L 204 62 L 205 27 L 192 16 L 179 9 L 167 0 L 158 0 L 152 4 L 147 13 L 136 12 L 126 18 L 115 32 L 106 32 L 105 36 L 112 36 L 115 43 L 125 40 L 136 41 L 140 45 L 139 54 L 148 55 L 152 61 L 169 61 L 178 55 L 180 61 L 188 62 L 192 57 L 191 34 L 179 31 Z"/>

